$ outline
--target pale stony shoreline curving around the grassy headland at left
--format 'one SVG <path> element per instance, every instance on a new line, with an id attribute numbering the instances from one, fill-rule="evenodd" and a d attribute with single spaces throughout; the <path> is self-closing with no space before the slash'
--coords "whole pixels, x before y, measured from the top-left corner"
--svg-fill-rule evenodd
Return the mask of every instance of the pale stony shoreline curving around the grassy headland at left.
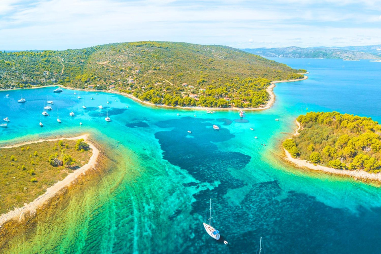
<path id="1" fill-rule="evenodd" d="M 39 142 L 44 142 L 44 141 L 57 141 L 57 140 L 62 140 L 62 139 L 77 140 L 77 139 L 83 138 L 89 144 L 93 153 L 90 157 L 90 160 L 85 165 L 83 165 L 79 169 L 76 169 L 73 173 L 70 173 L 69 175 L 67 175 L 64 178 L 64 180 L 57 182 L 53 186 L 47 188 L 46 192 L 44 194 L 40 195 L 39 197 L 34 199 L 32 202 L 24 205 L 23 207 L 16 208 L 12 211 L 1 214 L 0 215 L 0 228 L 5 222 L 7 222 L 9 220 L 16 219 L 18 221 L 21 221 L 25 214 L 35 213 L 38 207 L 42 206 L 45 202 L 47 202 L 49 199 L 51 199 L 56 194 L 58 194 L 59 191 L 63 190 L 65 187 L 69 186 L 80 175 L 85 174 L 86 171 L 88 171 L 91 168 L 94 168 L 94 166 L 97 164 L 97 158 L 99 155 L 99 150 L 95 147 L 94 144 L 89 142 L 88 137 L 89 137 L 89 134 L 84 134 L 84 135 L 80 135 L 77 137 L 70 137 L 70 138 L 39 139 L 37 141 L 28 141 L 28 142 L 15 144 L 15 145 L 1 147 L 1 148 L 12 148 L 12 147 L 25 145 L 25 144 L 39 143 Z"/>

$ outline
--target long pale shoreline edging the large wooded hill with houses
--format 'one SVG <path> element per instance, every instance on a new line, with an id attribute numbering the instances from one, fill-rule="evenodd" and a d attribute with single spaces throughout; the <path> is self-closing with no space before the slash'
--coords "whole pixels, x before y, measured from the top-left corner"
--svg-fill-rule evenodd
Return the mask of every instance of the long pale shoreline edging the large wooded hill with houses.
<path id="1" fill-rule="evenodd" d="M 306 73 L 301 73 L 301 74 L 308 74 L 309 72 Z M 88 92 L 105 92 L 105 93 L 112 93 L 112 94 L 119 94 L 126 96 L 136 102 L 139 102 L 143 105 L 150 106 L 150 107 L 157 107 L 157 108 L 166 108 L 166 109 L 184 109 L 184 110 L 213 110 L 213 111 L 229 111 L 229 110 L 237 110 L 237 111 L 259 111 L 259 110 L 266 110 L 271 108 L 271 106 L 275 102 L 275 94 L 274 94 L 274 87 L 275 84 L 277 83 L 285 83 L 285 82 L 297 82 L 297 81 L 302 81 L 308 79 L 308 76 L 304 75 L 303 78 L 300 79 L 290 79 L 290 80 L 278 80 L 278 81 L 272 81 L 270 85 L 266 88 L 267 93 L 270 96 L 270 99 L 267 101 L 267 103 L 263 107 L 258 107 L 258 108 L 208 108 L 208 107 L 172 107 L 168 105 L 161 105 L 161 104 L 153 104 L 148 101 L 142 101 L 135 96 L 124 93 L 124 92 L 119 92 L 119 91 L 114 91 L 114 90 L 95 90 L 95 89 L 82 89 L 82 88 L 72 88 L 72 87 L 65 87 L 62 85 L 48 85 L 48 86 L 38 86 L 38 87 L 27 87 L 27 88 L 12 88 L 12 89 L 4 89 L 0 91 L 11 91 L 11 90 L 20 90 L 20 89 L 37 89 L 37 88 L 44 88 L 44 87 L 61 87 L 67 90 L 78 90 L 78 91 L 88 91 Z"/>

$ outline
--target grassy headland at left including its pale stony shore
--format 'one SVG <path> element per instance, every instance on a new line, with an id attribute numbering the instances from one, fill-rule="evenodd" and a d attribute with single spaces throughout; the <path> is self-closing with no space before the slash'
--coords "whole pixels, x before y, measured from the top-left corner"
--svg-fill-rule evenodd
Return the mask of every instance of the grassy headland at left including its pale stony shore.
<path id="1" fill-rule="evenodd" d="M 0 148 L 0 225 L 35 210 L 94 166 L 98 150 L 87 136 Z"/>

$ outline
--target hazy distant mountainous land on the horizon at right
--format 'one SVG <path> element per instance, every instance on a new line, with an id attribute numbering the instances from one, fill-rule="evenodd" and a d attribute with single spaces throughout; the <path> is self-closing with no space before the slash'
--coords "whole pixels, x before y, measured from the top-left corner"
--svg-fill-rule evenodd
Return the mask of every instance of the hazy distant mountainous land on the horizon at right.
<path id="1" fill-rule="evenodd" d="M 359 52 L 348 49 L 333 49 L 333 48 L 271 48 L 271 49 L 243 49 L 246 52 L 259 55 L 262 57 L 276 57 L 276 58 L 318 58 L 318 59 L 343 59 L 343 60 L 381 60 L 379 51 Z"/>

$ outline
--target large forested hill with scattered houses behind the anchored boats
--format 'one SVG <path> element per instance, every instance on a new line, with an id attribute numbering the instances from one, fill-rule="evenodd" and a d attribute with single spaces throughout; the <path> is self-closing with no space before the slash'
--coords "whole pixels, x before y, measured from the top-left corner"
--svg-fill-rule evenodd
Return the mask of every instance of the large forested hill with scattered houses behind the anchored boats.
<path id="1" fill-rule="evenodd" d="M 229 47 L 176 42 L 0 53 L 2 88 L 113 88 L 173 106 L 257 107 L 268 100 L 270 81 L 302 78 L 303 71 Z"/>

